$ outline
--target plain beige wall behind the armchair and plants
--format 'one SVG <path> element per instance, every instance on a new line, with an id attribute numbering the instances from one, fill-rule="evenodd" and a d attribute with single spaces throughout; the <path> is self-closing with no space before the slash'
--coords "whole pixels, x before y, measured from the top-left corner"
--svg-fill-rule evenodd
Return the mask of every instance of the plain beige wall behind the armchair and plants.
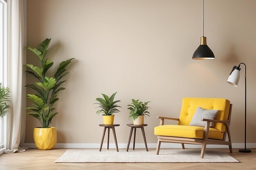
<path id="1" fill-rule="evenodd" d="M 156 143 L 157 115 L 178 117 L 183 97 L 229 99 L 231 137 L 243 143 L 244 67 L 238 88 L 226 82 L 240 62 L 247 64 L 247 139 L 256 143 L 255 7 L 255 0 L 206 0 L 204 33 L 216 60 L 199 61 L 191 57 L 202 36 L 202 0 L 27 0 L 27 45 L 52 38 L 50 60 L 76 58 L 56 104 L 58 143 L 100 143 L 102 117 L 93 103 L 116 91 L 119 143 L 128 140 L 132 98 L 151 101 L 145 131 L 148 143 Z M 25 143 L 33 143 L 35 126 L 39 121 L 27 116 Z"/>

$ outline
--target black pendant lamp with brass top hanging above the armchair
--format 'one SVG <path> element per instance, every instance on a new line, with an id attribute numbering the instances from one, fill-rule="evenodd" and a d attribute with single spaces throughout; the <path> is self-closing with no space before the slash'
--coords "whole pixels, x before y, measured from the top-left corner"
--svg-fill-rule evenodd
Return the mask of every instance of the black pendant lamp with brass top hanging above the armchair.
<path id="1" fill-rule="evenodd" d="M 203 0 L 203 36 L 201 37 L 201 44 L 193 53 L 194 60 L 214 60 L 215 56 L 209 46 L 206 44 L 206 37 L 204 37 L 204 0 Z"/>

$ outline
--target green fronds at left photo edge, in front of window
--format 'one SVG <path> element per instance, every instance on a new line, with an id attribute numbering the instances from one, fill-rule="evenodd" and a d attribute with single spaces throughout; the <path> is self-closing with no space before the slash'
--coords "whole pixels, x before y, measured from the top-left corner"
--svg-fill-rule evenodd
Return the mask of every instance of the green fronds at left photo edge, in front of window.
<path id="1" fill-rule="evenodd" d="M 9 87 L 4 88 L 4 86 L 2 86 L 2 83 L 0 83 L 0 117 L 4 117 L 8 113 L 8 109 L 10 108 L 9 104 L 6 103 L 10 101 L 9 94 Z"/>

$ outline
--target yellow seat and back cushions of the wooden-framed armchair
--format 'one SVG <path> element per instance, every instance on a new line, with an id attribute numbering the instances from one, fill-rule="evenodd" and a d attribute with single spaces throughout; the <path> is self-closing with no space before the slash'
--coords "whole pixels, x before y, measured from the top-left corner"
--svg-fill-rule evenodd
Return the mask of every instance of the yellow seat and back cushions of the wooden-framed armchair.
<path id="1" fill-rule="evenodd" d="M 183 98 L 178 125 L 162 125 L 155 127 L 155 135 L 203 139 L 204 128 L 189 126 L 190 121 L 198 107 L 207 110 L 219 110 L 215 119 L 227 120 L 229 115 L 229 100 L 215 98 Z M 215 123 L 209 129 L 209 138 L 223 139 L 226 127 L 224 124 Z"/>

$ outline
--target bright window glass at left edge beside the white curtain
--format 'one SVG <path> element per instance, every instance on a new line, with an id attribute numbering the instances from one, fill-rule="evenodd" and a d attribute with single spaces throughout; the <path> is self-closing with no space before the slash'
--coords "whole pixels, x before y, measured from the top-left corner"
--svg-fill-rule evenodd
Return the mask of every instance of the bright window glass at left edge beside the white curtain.
<path id="1" fill-rule="evenodd" d="M 0 0 L 0 82 L 7 86 L 7 4 Z M 6 117 L 0 118 L 0 154 L 6 136 Z"/>

